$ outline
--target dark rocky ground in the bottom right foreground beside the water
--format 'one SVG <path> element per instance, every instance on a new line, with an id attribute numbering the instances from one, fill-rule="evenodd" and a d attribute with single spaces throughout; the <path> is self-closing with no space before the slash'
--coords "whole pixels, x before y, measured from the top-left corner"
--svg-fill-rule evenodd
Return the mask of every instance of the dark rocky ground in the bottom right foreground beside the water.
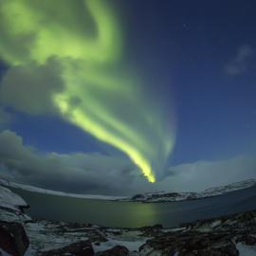
<path id="1" fill-rule="evenodd" d="M 256 247 L 256 211 L 198 220 L 184 224 L 184 228 L 158 232 L 139 247 L 140 255 L 238 256 L 238 243 Z M 256 249 L 249 255 L 256 255 Z"/>

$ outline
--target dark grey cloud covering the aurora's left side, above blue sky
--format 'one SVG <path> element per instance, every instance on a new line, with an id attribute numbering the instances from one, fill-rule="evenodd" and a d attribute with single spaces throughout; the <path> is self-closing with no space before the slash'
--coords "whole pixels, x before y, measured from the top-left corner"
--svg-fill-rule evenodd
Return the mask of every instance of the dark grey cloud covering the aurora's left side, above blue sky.
<path id="1" fill-rule="evenodd" d="M 57 112 L 53 93 L 63 89 L 61 68 L 51 59 L 44 65 L 30 63 L 10 67 L 0 86 L 0 101 L 27 114 Z"/>

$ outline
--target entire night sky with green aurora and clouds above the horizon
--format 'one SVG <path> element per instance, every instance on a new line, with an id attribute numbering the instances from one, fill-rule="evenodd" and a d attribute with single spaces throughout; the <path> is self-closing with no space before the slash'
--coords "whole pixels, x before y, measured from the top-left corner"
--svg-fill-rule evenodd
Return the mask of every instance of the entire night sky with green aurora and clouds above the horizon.
<path id="1" fill-rule="evenodd" d="M 0 0 L 0 179 L 126 196 L 254 178 L 255 9 Z"/>

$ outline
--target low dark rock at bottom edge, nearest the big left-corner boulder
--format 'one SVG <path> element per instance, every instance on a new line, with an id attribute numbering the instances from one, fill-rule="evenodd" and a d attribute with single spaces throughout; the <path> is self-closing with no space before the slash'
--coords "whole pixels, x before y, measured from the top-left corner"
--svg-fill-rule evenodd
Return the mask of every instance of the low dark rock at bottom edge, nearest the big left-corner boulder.
<path id="1" fill-rule="evenodd" d="M 71 244 L 67 247 L 45 251 L 41 256 L 93 256 L 94 250 L 89 240 Z"/>

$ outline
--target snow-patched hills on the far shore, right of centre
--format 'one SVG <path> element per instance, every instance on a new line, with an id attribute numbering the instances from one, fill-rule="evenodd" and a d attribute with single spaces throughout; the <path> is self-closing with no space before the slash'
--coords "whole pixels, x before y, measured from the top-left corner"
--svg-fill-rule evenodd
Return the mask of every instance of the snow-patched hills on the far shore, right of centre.
<path id="1" fill-rule="evenodd" d="M 203 192 L 146 192 L 139 193 L 132 197 L 124 199 L 125 201 L 137 202 L 176 202 L 184 200 L 193 200 L 205 197 L 221 195 L 227 192 L 247 189 L 256 186 L 256 179 L 247 179 L 240 182 L 234 182 L 229 185 L 213 187 Z"/>

